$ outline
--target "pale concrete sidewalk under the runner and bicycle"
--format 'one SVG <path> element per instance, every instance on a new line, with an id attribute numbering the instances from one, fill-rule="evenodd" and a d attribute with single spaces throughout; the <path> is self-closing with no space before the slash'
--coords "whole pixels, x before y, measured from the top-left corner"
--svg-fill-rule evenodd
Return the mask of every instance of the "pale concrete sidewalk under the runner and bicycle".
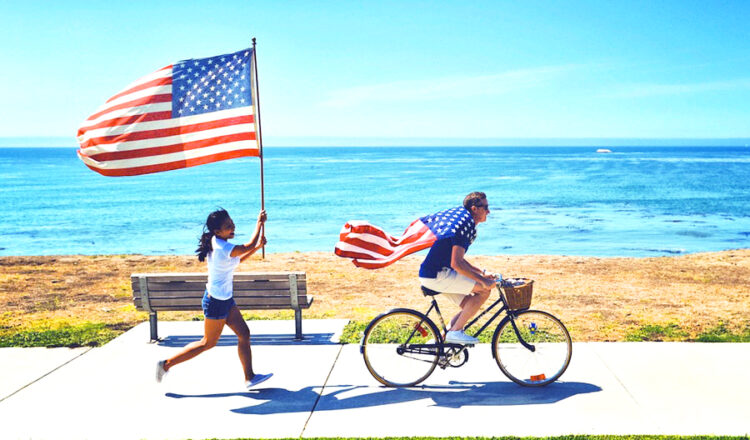
<path id="1" fill-rule="evenodd" d="M 154 364 L 202 335 L 201 322 L 148 323 L 95 349 L 0 349 L 0 438 L 165 439 L 336 436 L 542 436 L 750 432 L 750 344 L 580 343 L 560 381 L 524 388 L 488 345 L 423 386 L 391 389 L 367 372 L 342 320 L 250 321 L 254 366 L 274 377 L 246 391 L 236 338 L 175 367 Z"/>

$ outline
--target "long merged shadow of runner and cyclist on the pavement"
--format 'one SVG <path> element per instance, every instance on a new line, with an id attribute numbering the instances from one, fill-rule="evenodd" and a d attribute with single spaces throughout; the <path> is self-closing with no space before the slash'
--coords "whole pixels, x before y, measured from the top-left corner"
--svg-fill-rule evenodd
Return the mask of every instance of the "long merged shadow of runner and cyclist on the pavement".
<path id="1" fill-rule="evenodd" d="M 395 403 L 430 399 L 443 408 L 471 406 L 509 406 L 551 404 L 578 394 L 601 391 L 601 387 L 584 382 L 555 382 L 546 387 L 526 388 L 512 382 L 457 382 L 449 386 L 421 386 L 413 388 L 368 387 L 365 385 L 328 385 L 326 394 L 318 399 L 320 386 L 305 387 L 298 391 L 283 388 L 262 388 L 245 393 L 217 393 L 186 395 L 167 393 L 167 397 L 182 398 L 221 398 L 242 396 L 260 401 L 231 410 L 238 414 L 281 414 L 312 411 L 336 411 L 343 409 L 368 408 Z M 359 393 L 357 389 L 372 389 Z M 333 390 L 332 392 L 329 392 Z M 351 396 L 342 393 L 353 391 Z M 317 404 L 315 403 L 317 400 Z"/>

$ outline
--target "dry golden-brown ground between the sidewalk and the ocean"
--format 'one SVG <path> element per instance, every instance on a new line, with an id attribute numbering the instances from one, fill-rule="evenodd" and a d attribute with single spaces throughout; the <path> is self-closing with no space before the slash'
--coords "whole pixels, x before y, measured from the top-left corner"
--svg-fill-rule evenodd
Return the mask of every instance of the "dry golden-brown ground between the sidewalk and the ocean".
<path id="1" fill-rule="evenodd" d="M 267 254 L 240 271 L 307 272 L 315 296 L 308 318 L 368 320 L 392 307 L 426 310 L 417 271 L 422 256 L 379 270 L 356 268 L 331 253 Z M 750 249 L 659 258 L 472 256 L 504 277 L 535 280 L 533 308 L 552 312 L 577 341 L 618 341 L 647 324 L 679 325 L 687 338 L 723 323 L 750 327 Z M 132 305 L 134 272 L 204 272 L 193 256 L 0 257 L 0 330 L 105 322 L 129 328 L 148 319 Z M 445 315 L 454 306 L 441 300 Z M 247 312 L 291 317 L 291 312 Z M 195 312 L 160 313 L 187 320 Z"/>

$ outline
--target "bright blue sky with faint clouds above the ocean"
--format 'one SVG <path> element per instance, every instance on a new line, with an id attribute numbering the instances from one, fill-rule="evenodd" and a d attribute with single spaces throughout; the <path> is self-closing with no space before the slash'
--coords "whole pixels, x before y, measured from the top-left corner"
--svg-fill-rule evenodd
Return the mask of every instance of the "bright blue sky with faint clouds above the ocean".
<path id="1" fill-rule="evenodd" d="M 0 137 L 72 142 L 135 79 L 256 37 L 267 145 L 750 138 L 748 1 L 0 0 L 0 17 Z"/>

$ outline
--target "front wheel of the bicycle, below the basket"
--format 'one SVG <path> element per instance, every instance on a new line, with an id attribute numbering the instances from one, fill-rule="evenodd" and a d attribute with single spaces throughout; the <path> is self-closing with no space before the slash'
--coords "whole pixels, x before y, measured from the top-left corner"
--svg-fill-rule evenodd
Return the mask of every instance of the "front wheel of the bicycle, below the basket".
<path id="1" fill-rule="evenodd" d="M 492 338 L 492 354 L 500 370 L 513 382 L 529 387 L 544 386 L 562 376 L 573 352 L 565 325 L 538 310 L 519 312 L 514 322 L 515 328 L 509 318 L 504 319 Z"/>

